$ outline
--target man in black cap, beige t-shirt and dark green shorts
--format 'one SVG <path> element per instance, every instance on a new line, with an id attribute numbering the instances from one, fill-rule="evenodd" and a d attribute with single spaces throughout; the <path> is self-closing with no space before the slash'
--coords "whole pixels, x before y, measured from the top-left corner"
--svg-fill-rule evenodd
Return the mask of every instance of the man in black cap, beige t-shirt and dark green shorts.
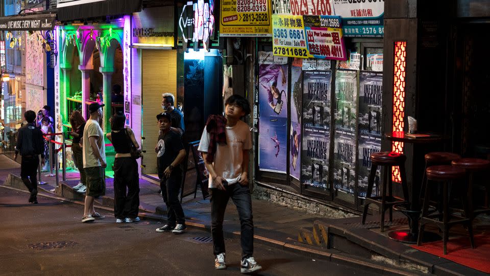
<path id="1" fill-rule="evenodd" d="M 102 118 L 104 104 L 91 103 L 88 107 L 90 119 L 83 129 L 83 169 L 87 175 L 87 191 L 85 195 L 85 208 L 82 222 L 93 222 L 94 219 L 103 219 L 105 216 L 93 209 L 94 197 L 106 194 L 106 179 L 104 170 L 106 164 L 106 146 L 104 132 L 99 121 Z"/>

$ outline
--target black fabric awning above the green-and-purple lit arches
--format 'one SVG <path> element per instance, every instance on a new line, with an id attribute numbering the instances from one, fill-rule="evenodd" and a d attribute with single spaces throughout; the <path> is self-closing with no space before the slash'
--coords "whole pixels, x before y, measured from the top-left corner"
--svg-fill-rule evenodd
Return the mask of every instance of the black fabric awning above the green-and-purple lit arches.
<path id="1" fill-rule="evenodd" d="M 65 0 L 58 1 L 58 20 L 71 21 L 141 11 L 142 0 Z"/>

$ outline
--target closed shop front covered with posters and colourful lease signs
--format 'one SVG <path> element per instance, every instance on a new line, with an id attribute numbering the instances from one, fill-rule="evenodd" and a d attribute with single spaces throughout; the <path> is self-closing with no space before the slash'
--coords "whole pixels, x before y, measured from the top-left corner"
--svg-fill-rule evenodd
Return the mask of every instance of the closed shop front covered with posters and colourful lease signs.
<path id="1" fill-rule="evenodd" d="M 384 3 L 318 2 L 272 1 L 258 39 L 255 177 L 360 210 L 383 133 Z"/>

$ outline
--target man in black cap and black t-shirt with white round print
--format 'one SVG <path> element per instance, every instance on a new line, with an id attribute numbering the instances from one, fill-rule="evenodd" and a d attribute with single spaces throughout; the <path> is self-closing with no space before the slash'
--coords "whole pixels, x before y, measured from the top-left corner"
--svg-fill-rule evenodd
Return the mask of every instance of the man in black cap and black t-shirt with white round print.
<path id="1" fill-rule="evenodd" d="M 170 130 L 172 118 L 169 113 L 162 112 L 157 115 L 160 135 L 155 147 L 157 153 L 158 177 L 162 197 L 167 206 L 167 224 L 157 228 L 157 232 L 172 232 L 182 234 L 185 232 L 184 210 L 179 200 L 179 190 L 182 182 L 180 164 L 185 157 L 179 133 Z"/>

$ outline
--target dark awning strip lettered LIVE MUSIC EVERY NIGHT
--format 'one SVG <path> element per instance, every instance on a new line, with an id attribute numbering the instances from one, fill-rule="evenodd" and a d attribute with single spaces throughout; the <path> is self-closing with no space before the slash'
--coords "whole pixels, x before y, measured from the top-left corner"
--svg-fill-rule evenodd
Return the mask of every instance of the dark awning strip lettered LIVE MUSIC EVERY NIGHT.
<path id="1" fill-rule="evenodd" d="M 55 28 L 56 14 L 29 14 L 0 17 L 1 31 L 49 31 Z"/>

